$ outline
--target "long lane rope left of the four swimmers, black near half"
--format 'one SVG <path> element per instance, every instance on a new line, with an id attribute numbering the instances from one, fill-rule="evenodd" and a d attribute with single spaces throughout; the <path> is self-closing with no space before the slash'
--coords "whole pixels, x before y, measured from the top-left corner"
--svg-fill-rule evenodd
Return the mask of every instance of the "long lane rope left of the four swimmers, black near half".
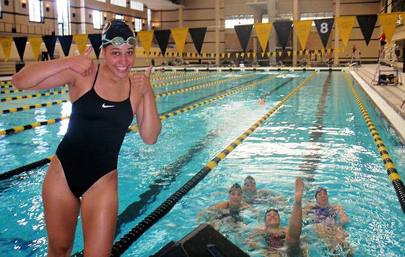
<path id="1" fill-rule="evenodd" d="M 155 210 L 153 210 L 145 219 L 143 219 L 138 225 L 132 228 L 127 234 L 116 241 L 112 247 L 110 256 L 120 256 L 123 254 L 143 233 L 163 218 L 174 205 L 185 196 L 192 188 L 194 188 L 201 180 L 203 180 L 218 163 L 224 159 L 230 152 L 232 152 L 238 145 L 242 143 L 250 134 L 252 134 L 256 128 L 261 125 L 271 114 L 273 114 L 282 104 L 284 104 L 291 96 L 293 96 L 313 75 L 317 72 L 315 70 L 309 77 L 307 77 L 296 89 L 288 94 L 283 100 L 281 100 L 273 109 L 271 109 L 266 115 L 259 119 L 249 130 L 240 135 L 235 141 L 233 141 L 228 147 L 220 152 L 215 158 L 208 162 L 199 172 L 194 175 L 188 182 L 186 182 L 180 189 L 160 204 Z"/>

